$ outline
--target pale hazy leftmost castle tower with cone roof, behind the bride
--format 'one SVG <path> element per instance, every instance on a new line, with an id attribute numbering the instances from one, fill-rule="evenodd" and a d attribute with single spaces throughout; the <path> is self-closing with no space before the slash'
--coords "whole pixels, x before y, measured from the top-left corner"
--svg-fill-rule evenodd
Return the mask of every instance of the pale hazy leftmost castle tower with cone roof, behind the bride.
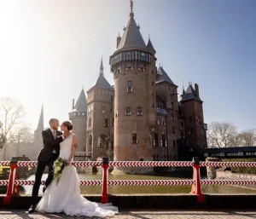
<path id="1" fill-rule="evenodd" d="M 73 133 L 78 136 L 77 153 L 86 151 L 86 122 L 87 122 L 87 100 L 84 94 L 84 88 L 81 90 L 79 99 L 74 105 L 73 111 L 68 113 L 69 119 L 73 124 Z M 84 157 L 77 157 L 76 160 L 85 160 Z"/>

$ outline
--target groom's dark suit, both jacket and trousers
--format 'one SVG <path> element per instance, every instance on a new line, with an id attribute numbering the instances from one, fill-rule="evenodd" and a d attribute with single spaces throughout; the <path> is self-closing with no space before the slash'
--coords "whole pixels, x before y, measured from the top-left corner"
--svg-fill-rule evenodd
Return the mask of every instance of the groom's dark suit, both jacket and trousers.
<path id="1" fill-rule="evenodd" d="M 60 143 L 63 141 L 61 131 L 56 130 L 56 137 L 53 135 L 52 130 L 43 130 L 43 142 L 44 147 L 38 155 L 38 166 L 35 174 L 35 182 L 32 189 L 32 208 L 35 208 L 38 202 L 38 190 L 41 185 L 42 176 L 44 174 L 44 169 L 48 166 L 49 174 L 47 180 L 45 181 L 44 188 L 49 186 L 49 183 L 53 179 L 53 164 L 55 159 L 59 157 L 60 154 Z"/>

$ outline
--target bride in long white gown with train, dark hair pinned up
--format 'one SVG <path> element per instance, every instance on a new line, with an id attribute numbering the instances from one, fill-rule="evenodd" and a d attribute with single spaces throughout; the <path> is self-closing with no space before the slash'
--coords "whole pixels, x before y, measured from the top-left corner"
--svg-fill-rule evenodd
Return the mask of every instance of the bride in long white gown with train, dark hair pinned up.
<path id="1" fill-rule="evenodd" d="M 67 166 L 62 170 L 58 183 L 54 179 L 44 192 L 36 210 L 47 213 L 64 212 L 68 216 L 113 216 L 118 208 L 111 204 L 90 202 L 80 194 L 79 176 L 72 165 L 77 136 L 71 133 L 73 125 L 66 121 L 61 124 L 61 131 L 67 136 L 60 146 L 60 158 L 67 159 Z"/>

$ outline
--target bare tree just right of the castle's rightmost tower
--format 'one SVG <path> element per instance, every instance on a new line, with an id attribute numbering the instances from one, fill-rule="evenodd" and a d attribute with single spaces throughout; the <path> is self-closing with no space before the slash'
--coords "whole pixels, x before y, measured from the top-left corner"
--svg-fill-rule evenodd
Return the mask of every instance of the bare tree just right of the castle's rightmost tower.
<path id="1" fill-rule="evenodd" d="M 207 141 L 209 147 L 232 147 L 234 136 L 237 137 L 236 126 L 228 122 L 212 122 L 208 126 Z M 238 141 L 238 139 L 236 139 Z"/>

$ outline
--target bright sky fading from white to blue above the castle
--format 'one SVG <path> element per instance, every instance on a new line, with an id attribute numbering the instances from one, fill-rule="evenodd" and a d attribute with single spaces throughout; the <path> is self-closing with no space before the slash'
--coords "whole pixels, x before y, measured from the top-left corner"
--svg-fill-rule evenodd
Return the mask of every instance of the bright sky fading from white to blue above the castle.
<path id="1" fill-rule="evenodd" d="M 144 40 L 177 84 L 199 84 L 205 123 L 256 128 L 256 1 L 134 0 Z M 0 96 L 20 101 L 38 125 L 68 119 L 72 100 L 99 75 L 129 18 L 129 0 L 0 1 Z"/>

